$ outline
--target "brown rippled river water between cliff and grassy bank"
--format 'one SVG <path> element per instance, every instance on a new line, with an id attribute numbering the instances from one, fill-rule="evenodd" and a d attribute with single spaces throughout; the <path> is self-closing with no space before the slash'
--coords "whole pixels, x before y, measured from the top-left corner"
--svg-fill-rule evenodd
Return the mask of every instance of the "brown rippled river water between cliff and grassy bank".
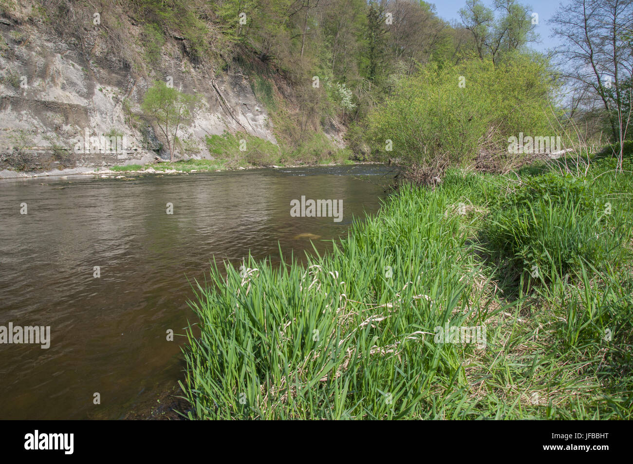
<path id="1" fill-rule="evenodd" d="M 0 326 L 51 330 L 47 349 L 0 344 L 0 419 L 122 418 L 173 388 L 184 337 L 166 331 L 196 322 L 190 282 L 214 258 L 279 263 L 279 246 L 301 257 L 310 238 L 326 251 L 377 212 L 391 176 L 357 165 L 129 177 L 0 181 Z M 341 222 L 292 217 L 301 196 L 342 199 Z"/>

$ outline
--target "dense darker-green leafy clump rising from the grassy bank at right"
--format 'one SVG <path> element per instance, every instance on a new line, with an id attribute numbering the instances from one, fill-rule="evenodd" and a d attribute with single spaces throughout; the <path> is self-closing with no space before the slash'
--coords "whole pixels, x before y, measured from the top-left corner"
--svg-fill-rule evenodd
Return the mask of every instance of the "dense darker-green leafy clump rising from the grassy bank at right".
<path id="1" fill-rule="evenodd" d="M 569 175 L 528 179 L 495 209 L 487 220 L 489 249 L 541 282 L 582 265 L 600 267 L 622 239 L 589 180 Z"/>

